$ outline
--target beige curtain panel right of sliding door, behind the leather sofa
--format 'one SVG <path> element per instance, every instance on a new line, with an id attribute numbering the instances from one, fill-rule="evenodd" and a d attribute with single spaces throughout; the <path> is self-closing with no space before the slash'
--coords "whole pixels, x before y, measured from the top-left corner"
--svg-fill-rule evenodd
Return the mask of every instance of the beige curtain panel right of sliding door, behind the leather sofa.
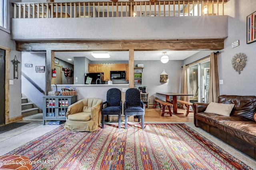
<path id="1" fill-rule="evenodd" d="M 210 54 L 210 87 L 208 94 L 208 103 L 218 102 L 219 93 L 219 76 L 218 76 L 218 54 Z"/>

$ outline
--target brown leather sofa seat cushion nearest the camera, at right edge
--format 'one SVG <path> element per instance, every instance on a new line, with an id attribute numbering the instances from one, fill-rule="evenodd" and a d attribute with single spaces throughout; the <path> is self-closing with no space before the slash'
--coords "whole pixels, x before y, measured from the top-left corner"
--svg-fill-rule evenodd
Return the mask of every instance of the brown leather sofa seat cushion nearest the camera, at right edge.
<path id="1" fill-rule="evenodd" d="M 222 121 L 218 128 L 230 136 L 256 147 L 256 123 L 252 121 Z"/>

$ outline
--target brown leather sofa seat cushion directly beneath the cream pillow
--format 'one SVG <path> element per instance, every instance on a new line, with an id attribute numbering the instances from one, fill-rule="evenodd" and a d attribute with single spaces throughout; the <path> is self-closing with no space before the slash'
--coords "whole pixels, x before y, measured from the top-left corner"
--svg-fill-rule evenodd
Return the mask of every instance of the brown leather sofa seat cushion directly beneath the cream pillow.
<path id="1" fill-rule="evenodd" d="M 248 119 L 245 119 L 242 117 L 237 117 L 232 115 L 230 117 L 226 117 L 226 116 L 220 116 L 213 113 L 205 113 L 205 112 L 196 113 L 194 117 L 195 119 L 198 119 L 199 121 L 204 122 L 213 127 L 217 127 L 220 121 L 249 121 Z"/>

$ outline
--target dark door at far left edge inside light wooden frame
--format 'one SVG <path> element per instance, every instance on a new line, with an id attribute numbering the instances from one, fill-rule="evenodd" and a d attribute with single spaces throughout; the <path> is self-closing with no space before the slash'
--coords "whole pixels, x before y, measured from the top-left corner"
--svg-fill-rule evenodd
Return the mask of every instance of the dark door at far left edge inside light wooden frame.
<path id="1" fill-rule="evenodd" d="M 0 49 L 0 87 L 5 89 L 5 50 Z M 5 124 L 5 90 L 0 90 L 0 125 Z"/>

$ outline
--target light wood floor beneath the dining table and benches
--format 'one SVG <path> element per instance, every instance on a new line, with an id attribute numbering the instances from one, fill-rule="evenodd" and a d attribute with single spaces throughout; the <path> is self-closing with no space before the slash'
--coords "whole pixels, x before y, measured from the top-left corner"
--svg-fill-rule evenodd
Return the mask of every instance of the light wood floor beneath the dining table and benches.
<path id="1" fill-rule="evenodd" d="M 172 109 L 171 109 L 172 110 Z M 190 112 L 186 117 L 186 110 L 178 109 L 178 113 L 184 113 L 183 115 L 174 115 L 170 117 L 169 114 L 165 113 L 164 117 L 161 116 L 162 109 L 150 108 L 145 109 L 144 121 L 145 122 L 194 122 L 194 113 Z"/>

